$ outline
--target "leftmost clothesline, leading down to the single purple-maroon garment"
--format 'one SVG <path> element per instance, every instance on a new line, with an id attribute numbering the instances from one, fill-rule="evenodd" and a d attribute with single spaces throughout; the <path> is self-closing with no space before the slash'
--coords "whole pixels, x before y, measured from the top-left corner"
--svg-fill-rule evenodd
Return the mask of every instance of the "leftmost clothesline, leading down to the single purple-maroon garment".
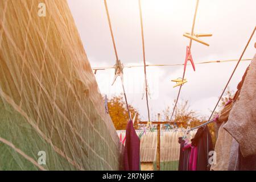
<path id="1" fill-rule="evenodd" d="M 115 47 L 114 34 L 113 34 L 112 26 L 111 26 L 111 20 L 110 20 L 109 10 L 108 10 L 108 5 L 106 3 L 106 0 L 104 0 L 104 4 L 105 4 L 105 9 L 106 9 L 106 14 L 108 16 L 108 23 L 109 23 L 109 29 L 110 29 L 110 33 L 111 33 L 111 37 L 112 37 L 112 42 L 113 42 L 113 47 L 114 47 L 114 51 L 115 51 L 115 58 L 118 61 L 117 48 Z M 131 121 L 129 105 L 128 105 L 128 102 L 127 102 L 125 86 L 123 85 L 123 82 L 122 82 L 122 88 L 123 88 L 123 95 L 125 96 L 125 102 L 126 102 L 127 112 L 128 112 L 128 116 L 129 116 L 129 121 Z"/>

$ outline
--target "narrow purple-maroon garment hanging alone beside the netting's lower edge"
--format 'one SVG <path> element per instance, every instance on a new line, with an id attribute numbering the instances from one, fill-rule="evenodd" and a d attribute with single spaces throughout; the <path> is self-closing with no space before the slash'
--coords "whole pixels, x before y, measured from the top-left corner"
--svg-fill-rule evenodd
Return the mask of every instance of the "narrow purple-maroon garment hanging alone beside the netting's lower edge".
<path id="1" fill-rule="evenodd" d="M 139 137 L 136 134 L 133 121 L 126 126 L 125 152 L 123 165 L 125 171 L 139 171 Z"/>

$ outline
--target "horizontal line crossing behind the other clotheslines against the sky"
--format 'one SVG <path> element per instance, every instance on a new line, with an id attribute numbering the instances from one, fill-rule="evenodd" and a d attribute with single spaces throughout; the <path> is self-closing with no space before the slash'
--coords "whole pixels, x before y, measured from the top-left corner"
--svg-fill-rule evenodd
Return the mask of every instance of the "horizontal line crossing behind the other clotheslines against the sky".
<path id="1" fill-rule="evenodd" d="M 250 61 L 252 59 L 242 59 L 241 61 Z M 228 62 L 236 62 L 238 59 L 230 59 L 230 60 L 213 60 L 213 61 L 200 61 L 195 64 L 209 64 L 209 63 L 228 63 Z M 183 66 L 183 64 L 146 64 L 146 67 L 175 67 L 175 66 Z M 191 64 L 188 64 L 191 65 Z M 144 67 L 144 65 L 126 65 L 124 68 L 138 68 Z M 106 69 L 114 69 L 114 67 L 92 67 L 94 71 L 97 70 L 106 70 Z"/>

